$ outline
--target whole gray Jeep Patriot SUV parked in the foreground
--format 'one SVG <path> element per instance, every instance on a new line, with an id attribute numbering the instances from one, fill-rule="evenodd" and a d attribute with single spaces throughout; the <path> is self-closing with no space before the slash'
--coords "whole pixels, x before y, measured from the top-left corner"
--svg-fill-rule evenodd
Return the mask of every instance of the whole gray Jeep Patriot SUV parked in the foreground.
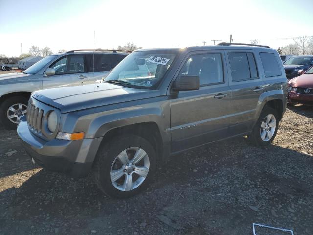
<path id="1" fill-rule="evenodd" d="M 271 143 L 287 94 L 279 55 L 266 46 L 141 49 L 103 83 L 34 92 L 17 132 L 35 163 L 75 177 L 92 171 L 121 198 L 178 152 L 238 135 Z"/>

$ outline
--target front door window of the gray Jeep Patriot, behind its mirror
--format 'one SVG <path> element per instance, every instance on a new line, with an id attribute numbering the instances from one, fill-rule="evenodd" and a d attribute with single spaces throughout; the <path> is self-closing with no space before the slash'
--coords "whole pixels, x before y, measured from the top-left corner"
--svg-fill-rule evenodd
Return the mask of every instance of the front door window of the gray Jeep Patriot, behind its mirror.
<path id="1" fill-rule="evenodd" d="M 200 85 L 202 86 L 223 82 L 221 54 L 193 55 L 185 62 L 180 74 L 199 76 Z"/>

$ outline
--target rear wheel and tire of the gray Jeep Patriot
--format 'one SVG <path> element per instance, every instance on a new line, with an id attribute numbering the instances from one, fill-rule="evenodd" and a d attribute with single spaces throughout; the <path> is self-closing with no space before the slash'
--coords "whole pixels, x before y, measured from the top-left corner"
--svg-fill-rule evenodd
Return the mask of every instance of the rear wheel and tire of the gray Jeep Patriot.
<path id="1" fill-rule="evenodd" d="M 278 120 L 275 109 L 268 106 L 264 107 L 252 133 L 249 135 L 249 139 L 257 146 L 270 144 L 277 134 Z"/>

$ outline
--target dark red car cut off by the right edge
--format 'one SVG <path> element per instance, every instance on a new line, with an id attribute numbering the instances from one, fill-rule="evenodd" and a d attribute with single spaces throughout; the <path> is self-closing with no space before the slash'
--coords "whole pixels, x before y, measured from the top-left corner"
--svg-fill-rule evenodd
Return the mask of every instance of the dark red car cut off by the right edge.
<path id="1" fill-rule="evenodd" d="M 313 66 L 289 81 L 288 102 L 313 105 Z"/>

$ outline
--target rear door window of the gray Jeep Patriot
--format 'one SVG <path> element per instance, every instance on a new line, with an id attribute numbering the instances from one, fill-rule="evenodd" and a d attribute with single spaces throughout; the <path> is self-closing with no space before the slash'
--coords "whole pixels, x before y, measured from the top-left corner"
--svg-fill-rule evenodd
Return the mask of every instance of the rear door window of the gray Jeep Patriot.
<path id="1" fill-rule="evenodd" d="M 228 53 L 233 82 L 258 79 L 258 71 L 252 53 Z"/>

